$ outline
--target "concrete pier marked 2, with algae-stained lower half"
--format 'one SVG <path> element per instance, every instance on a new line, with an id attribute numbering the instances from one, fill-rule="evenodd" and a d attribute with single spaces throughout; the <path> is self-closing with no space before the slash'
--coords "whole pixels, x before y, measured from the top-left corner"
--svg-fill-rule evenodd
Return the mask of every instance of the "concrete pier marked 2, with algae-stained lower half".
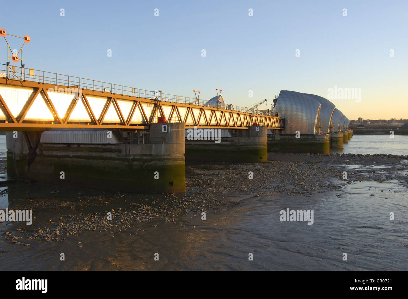
<path id="1" fill-rule="evenodd" d="M 213 130 L 221 131 L 221 129 Z M 268 161 L 266 126 L 250 126 L 248 130 L 230 130 L 230 132 L 230 136 L 222 137 L 220 142 L 211 139 L 200 140 L 201 138 L 189 140 L 191 138 L 186 137 L 186 160 L 242 163 Z"/>

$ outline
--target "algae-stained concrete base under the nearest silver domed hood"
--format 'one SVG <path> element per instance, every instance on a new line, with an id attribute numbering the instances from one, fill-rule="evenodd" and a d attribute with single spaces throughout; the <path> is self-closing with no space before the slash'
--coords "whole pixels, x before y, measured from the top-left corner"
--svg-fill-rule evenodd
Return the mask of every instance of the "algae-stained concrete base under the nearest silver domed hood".
<path id="1" fill-rule="evenodd" d="M 300 138 L 296 138 L 295 134 L 275 134 L 268 137 L 268 151 L 329 154 L 330 138 L 328 134 L 300 134 Z"/>

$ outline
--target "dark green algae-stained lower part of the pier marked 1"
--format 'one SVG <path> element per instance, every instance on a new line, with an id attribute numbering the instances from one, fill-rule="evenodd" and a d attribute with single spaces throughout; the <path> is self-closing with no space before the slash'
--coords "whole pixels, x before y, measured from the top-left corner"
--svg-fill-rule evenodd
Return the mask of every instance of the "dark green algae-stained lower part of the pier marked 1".
<path id="1" fill-rule="evenodd" d="M 18 174 L 44 183 L 69 185 L 134 193 L 184 193 L 185 160 L 177 157 L 111 156 L 106 152 L 97 155 L 42 148 L 30 167 L 27 156 L 17 157 Z M 7 165 L 13 175 L 12 154 L 7 154 Z M 61 178 L 61 171 L 64 178 Z M 158 172 L 158 179 L 155 179 Z"/>

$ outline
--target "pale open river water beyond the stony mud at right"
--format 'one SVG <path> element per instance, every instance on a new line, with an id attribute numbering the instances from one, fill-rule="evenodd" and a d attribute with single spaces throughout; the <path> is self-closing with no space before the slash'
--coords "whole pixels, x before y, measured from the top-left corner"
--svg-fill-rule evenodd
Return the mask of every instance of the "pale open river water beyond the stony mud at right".
<path id="1" fill-rule="evenodd" d="M 389 134 L 381 135 L 357 135 L 355 134 L 348 143 L 344 143 L 344 149 L 330 149 L 330 154 L 392 154 L 408 155 L 408 136 Z"/>

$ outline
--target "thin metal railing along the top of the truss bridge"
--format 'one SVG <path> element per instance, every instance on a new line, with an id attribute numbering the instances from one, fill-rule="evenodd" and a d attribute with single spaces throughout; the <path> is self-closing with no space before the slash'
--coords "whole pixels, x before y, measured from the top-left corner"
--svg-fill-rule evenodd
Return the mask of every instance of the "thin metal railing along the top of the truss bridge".
<path id="1" fill-rule="evenodd" d="M 162 93 L 160 90 L 145 90 L 140 88 L 134 88 L 130 86 L 124 86 L 119 84 L 108 83 L 104 81 L 97 81 L 93 79 L 85 79 L 81 77 L 63 75 L 58 73 L 51 73 L 44 70 L 35 70 L 33 68 L 20 68 L 19 66 L 7 66 L 6 64 L 0 64 L 0 72 L 4 72 L 8 79 L 13 80 L 26 80 L 35 81 L 40 83 L 48 83 L 54 85 L 62 85 L 69 87 L 77 87 L 82 89 L 98 90 L 102 92 L 118 93 L 120 95 L 129 95 L 133 97 L 142 97 L 146 99 L 152 99 L 157 101 L 169 101 L 174 103 L 184 103 L 197 106 L 208 106 L 206 100 L 196 100 L 192 97 L 184 97 L 179 95 L 171 95 Z M 217 105 L 211 103 L 209 107 L 222 108 L 234 110 L 237 112 L 248 112 L 247 108 L 233 106 L 231 109 L 229 105 Z"/>

